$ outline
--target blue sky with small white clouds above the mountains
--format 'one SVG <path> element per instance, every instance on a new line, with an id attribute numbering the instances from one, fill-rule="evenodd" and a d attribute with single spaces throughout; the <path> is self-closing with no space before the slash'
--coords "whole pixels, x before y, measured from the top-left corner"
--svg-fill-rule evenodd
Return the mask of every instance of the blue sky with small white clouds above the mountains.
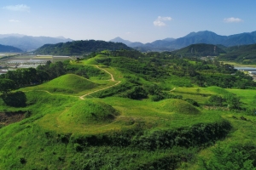
<path id="1" fill-rule="evenodd" d="M 192 31 L 228 36 L 256 31 L 256 1 L 8 0 L 0 1 L 0 34 L 153 42 Z"/>

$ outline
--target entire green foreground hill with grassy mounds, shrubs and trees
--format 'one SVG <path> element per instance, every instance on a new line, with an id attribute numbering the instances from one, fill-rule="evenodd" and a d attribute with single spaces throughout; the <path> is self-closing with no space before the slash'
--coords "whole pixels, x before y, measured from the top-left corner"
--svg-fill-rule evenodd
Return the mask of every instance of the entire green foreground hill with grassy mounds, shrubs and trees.
<path id="1" fill-rule="evenodd" d="M 0 169 L 256 167 L 255 82 L 217 60 L 104 50 L 0 82 Z"/>

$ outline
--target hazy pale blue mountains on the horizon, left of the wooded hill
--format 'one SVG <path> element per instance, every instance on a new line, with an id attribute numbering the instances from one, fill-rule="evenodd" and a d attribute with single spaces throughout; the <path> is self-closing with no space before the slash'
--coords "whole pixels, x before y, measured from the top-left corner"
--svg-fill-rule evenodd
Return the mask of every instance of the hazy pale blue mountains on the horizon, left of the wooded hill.
<path id="1" fill-rule="evenodd" d="M 20 48 L 23 51 L 35 50 L 44 44 L 71 42 L 65 37 L 32 37 L 21 34 L 0 34 L 0 44 Z"/>

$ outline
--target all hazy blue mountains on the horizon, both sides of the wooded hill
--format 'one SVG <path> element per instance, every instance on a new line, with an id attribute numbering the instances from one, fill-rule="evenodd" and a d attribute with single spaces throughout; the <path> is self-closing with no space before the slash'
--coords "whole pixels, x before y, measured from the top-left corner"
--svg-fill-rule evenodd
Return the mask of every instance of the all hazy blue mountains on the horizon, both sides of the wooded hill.
<path id="1" fill-rule="evenodd" d="M 59 42 L 72 42 L 73 40 L 65 37 L 32 37 L 22 34 L 0 34 L 0 44 L 20 48 L 22 51 L 32 51 L 44 46 L 44 44 L 56 44 Z M 135 48 L 142 52 L 148 51 L 173 51 L 187 47 L 191 44 L 207 43 L 214 45 L 224 45 L 225 47 L 248 45 L 256 43 L 256 31 L 244 32 L 230 36 L 220 36 L 212 31 L 191 32 L 184 37 L 177 39 L 167 37 L 154 42 L 142 43 L 124 40 L 116 37 L 110 42 L 122 42 L 125 45 Z"/>

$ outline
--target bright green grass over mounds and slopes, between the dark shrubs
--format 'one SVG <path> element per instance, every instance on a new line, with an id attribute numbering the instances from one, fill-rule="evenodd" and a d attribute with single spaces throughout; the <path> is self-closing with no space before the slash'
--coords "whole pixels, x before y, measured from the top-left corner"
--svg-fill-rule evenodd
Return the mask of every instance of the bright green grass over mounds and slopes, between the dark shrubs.
<path id="1" fill-rule="evenodd" d="M 97 55 L 96 58 L 105 57 Z M 96 65 L 96 58 L 74 63 L 74 65 Z M 125 81 L 125 75 L 116 68 L 99 65 L 111 74 L 116 81 Z M 129 75 L 128 75 L 129 76 Z M 110 79 L 110 77 L 109 77 Z M 139 77 L 143 85 L 150 82 Z M 150 99 L 134 100 L 120 97 L 79 99 L 79 96 L 108 88 L 117 82 L 109 80 L 90 80 L 76 75 L 65 75 L 50 82 L 21 90 L 26 94 L 24 108 L 9 107 L 0 99 L 0 111 L 31 111 L 32 116 L 21 122 L 15 122 L 0 128 L 0 169 L 93 169 L 90 166 L 102 164 L 102 169 L 134 169 L 148 165 L 144 169 L 155 169 L 154 163 L 164 164 L 163 160 L 178 156 L 195 156 L 195 151 L 187 148 L 136 150 L 118 145 L 86 145 L 79 140 L 84 137 L 96 139 L 105 134 L 118 133 L 119 144 L 124 142 L 127 133 L 141 132 L 137 135 L 154 134 L 158 131 L 189 128 L 199 123 L 214 123 L 227 120 L 232 130 L 227 138 L 218 144 L 255 142 L 256 118 L 231 111 L 208 111 L 190 105 L 181 99 L 164 99 L 159 102 Z M 194 99 L 201 105 L 213 94 L 236 94 L 243 105 L 253 108 L 254 90 L 208 88 L 181 88 L 189 85 L 188 79 L 171 77 L 166 82 L 159 82 L 167 93 L 179 94 L 183 99 Z M 51 93 L 49 94 L 48 91 Z M 246 117 L 247 121 L 242 120 Z M 102 137 L 103 138 L 103 137 Z M 141 136 L 131 138 L 140 139 Z M 155 136 L 155 139 L 159 136 Z M 93 142 L 96 142 L 93 140 Z M 83 145 L 84 144 L 84 145 Z M 144 144 L 147 144 L 145 142 Z M 84 150 L 78 150 L 79 148 Z M 195 161 L 184 162 L 181 169 L 200 169 L 199 156 L 211 157 L 211 147 L 201 146 Z M 202 149 L 202 150 L 201 150 Z M 20 163 L 24 158 L 26 163 Z M 179 157 L 180 158 L 180 157 Z M 168 160 L 170 161 L 170 160 Z M 88 167 L 89 166 L 89 167 Z M 143 168 L 143 167 L 142 167 Z"/>

